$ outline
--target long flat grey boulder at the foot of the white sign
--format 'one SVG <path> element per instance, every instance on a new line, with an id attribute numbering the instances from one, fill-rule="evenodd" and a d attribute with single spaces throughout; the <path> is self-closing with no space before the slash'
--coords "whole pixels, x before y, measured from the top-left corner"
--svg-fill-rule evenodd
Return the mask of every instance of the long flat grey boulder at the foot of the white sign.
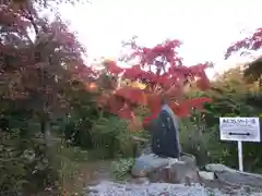
<path id="1" fill-rule="evenodd" d="M 214 172 L 215 176 L 226 184 L 262 187 L 262 175 L 260 174 L 240 172 L 223 164 L 207 164 L 205 169 Z"/>

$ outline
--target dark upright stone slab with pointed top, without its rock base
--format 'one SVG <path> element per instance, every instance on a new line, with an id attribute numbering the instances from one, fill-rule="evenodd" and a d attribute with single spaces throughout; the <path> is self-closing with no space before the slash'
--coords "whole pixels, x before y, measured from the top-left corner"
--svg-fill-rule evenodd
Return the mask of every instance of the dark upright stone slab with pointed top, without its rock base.
<path id="1" fill-rule="evenodd" d="M 162 110 L 151 128 L 152 151 L 159 157 L 180 157 L 178 122 L 168 105 Z"/>

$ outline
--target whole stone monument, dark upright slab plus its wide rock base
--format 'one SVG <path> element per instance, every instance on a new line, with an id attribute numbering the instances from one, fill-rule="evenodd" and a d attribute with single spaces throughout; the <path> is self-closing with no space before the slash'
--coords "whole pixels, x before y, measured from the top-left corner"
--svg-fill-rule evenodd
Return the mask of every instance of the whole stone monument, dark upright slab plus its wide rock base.
<path id="1" fill-rule="evenodd" d="M 168 105 L 163 103 L 158 117 L 146 130 L 151 133 L 153 154 L 142 154 L 135 159 L 132 176 L 147 177 L 150 182 L 200 182 L 195 158 L 181 152 L 178 120 Z"/>

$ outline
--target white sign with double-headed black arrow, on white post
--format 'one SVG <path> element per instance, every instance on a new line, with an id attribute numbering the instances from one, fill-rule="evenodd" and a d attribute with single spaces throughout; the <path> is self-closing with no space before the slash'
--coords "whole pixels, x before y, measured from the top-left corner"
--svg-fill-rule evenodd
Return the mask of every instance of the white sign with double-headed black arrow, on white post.
<path id="1" fill-rule="evenodd" d="M 222 140 L 238 143 L 238 164 L 243 171 L 242 142 L 261 142 L 259 118 L 219 118 L 219 133 Z"/>

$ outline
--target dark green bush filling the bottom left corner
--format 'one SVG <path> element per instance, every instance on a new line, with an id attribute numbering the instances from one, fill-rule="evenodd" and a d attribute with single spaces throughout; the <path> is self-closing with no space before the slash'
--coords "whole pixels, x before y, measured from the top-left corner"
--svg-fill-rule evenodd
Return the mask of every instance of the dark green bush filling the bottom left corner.
<path id="1" fill-rule="evenodd" d="M 17 132 L 9 132 L 1 138 L 0 195 L 57 191 L 58 172 L 40 135 L 21 139 Z"/>

